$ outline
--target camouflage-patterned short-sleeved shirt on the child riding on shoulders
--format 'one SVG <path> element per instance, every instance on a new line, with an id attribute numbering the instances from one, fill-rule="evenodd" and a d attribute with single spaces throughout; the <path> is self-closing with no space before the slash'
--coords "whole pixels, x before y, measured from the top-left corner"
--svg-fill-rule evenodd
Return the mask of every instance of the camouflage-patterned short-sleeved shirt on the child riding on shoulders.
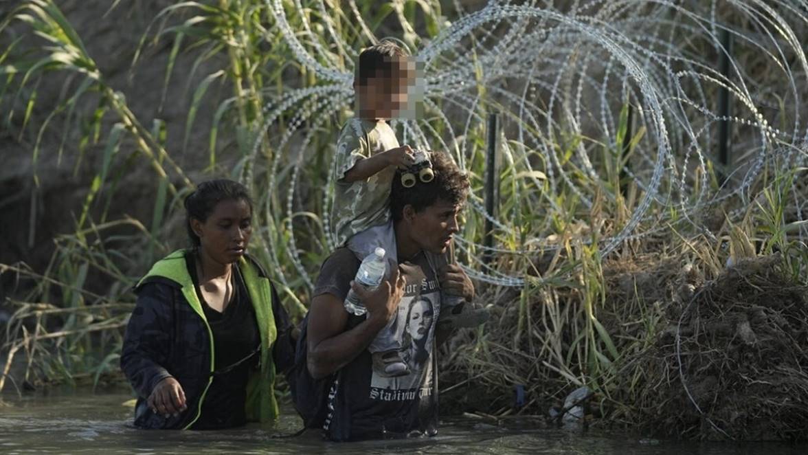
<path id="1" fill-rule="evenodd" d="M 395 167 L 385 169 L 356 182 L 344 181 L 345 173 L 360 159 L 370 158 L 398 147 L 398 139 L 384 120 L 348 120 L 339 132 L 334 176 L 334 206 L 331 230 L 338 246 L 348 238 L 390 220 L 389 197 Z"/>

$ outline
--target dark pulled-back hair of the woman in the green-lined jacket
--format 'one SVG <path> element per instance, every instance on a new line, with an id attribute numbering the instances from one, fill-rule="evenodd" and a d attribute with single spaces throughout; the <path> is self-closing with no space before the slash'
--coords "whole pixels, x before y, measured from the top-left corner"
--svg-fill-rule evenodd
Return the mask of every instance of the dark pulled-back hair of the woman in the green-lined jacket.
<path id="1" fill-rule="evenodd" d="M 228 179 L 208 180 L 200 183 L 196 186 L 196 190 L 185 198 L 185 227 L 194 246 L 200 246 L 200 238 L 191 229 L 191 219 L 204 223 L 216 209 L 216 204 L 222 200 L 244 200 L 250 206 L 250 213 L 252 213 L 250 194 L 241 183 Z"/>

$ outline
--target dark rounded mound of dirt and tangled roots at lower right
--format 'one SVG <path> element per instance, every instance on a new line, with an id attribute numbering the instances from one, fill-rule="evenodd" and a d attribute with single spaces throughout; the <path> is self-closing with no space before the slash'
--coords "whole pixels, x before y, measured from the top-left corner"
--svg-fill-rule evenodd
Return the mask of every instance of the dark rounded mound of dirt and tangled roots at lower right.
<path id="1" fill-rule="evenodd" d="M 678 334 L 660 337 L 651 361 L 671 381 L 648 389 L 663 432 L 806 438 L 808 291 L 781 267 L 779 255 L 741 261 L 672 312 Z"/>

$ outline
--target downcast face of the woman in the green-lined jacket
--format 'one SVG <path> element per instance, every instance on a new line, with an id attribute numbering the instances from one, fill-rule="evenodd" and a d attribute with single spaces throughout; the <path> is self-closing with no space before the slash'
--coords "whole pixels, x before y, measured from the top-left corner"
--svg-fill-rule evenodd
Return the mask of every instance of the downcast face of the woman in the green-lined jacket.
<path id="1" fill-rule="evenodd" d="M 252 212 L 246 200 L 222 200 L 204 222 L 192 219 L 204 253 L 217 263 L 234 263 L 244 255 L 252 234 Z"/>

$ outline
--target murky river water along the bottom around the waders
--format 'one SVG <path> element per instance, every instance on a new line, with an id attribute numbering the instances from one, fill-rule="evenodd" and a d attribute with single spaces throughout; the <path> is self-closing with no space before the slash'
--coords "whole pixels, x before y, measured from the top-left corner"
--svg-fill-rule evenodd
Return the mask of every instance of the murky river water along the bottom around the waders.
<path id="1" fill-rule="evenodd" d="M 445 418 L 440 434 L 415 440 L 336 444 L 317 434 L 276 438 L 259 428 L 221 432 L 141 431 L 131 426 L 132 396 L 120 390 L 93 394 L 62 391 L 0 399 L 0 453 L 579 453 L 679 455 L 734 453 L 796 455 L 808 445 L 694 443 L 537 430 L 529 421 L 506 428 L 480 419 Z M 287 412 L 276 432 L 291 434 L 301 420 Z"/>

